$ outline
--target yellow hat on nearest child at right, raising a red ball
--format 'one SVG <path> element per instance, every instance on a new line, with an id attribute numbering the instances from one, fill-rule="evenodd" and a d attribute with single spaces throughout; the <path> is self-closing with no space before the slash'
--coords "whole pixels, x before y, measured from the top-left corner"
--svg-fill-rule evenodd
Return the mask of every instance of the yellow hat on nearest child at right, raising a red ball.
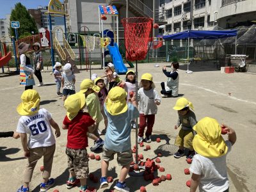
<path id="1" fill-rule="evenodd" d="M 206 116 L 193 129 L 196 131 L 193 147 L 198 154 L 204 157 L 221 157 L 227 154 L 228 147 L 221 136 L 221 127 L 216 119 Z"/>

